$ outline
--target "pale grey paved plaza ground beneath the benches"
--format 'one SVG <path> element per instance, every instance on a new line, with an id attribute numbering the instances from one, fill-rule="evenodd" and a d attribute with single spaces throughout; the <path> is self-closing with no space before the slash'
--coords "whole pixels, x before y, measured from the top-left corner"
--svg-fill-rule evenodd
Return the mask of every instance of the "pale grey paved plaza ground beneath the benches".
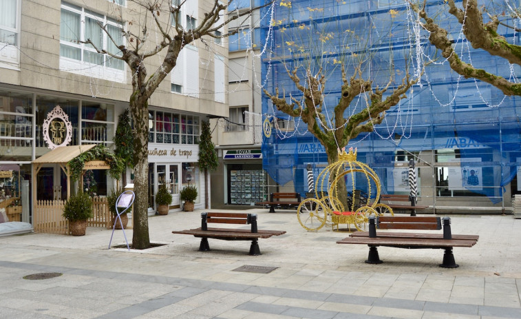
<path id="1" fill-rule="evenodd" d="M 295 210 L 247 210 L 259 229 L 287 231 L 260 239 L 261 256 L 248 256 L 247 241 L 209 239 L 200 252 L 200 239 L 171 231 L 200 226 L 201 212 L 151 216 L 151 241 L 167 245 L 146 251 L 107 249 L 111 230 L 93 227 L 1 237 L 0 318 L 521 318 L 521 220 L 511 215 L 451 216 L 453 234 L 480 240 L 454 248 L 460 267 L 444 269 L 442 249 L 380 247 L 383 264 L 365 264 L 366 245 L 337 245 L 348 233 L 330 227 L 308 232 Z M 234 270 L 245 265 L 275 270 Z M 23 278 L 40 273 L 63 275 Z"/>

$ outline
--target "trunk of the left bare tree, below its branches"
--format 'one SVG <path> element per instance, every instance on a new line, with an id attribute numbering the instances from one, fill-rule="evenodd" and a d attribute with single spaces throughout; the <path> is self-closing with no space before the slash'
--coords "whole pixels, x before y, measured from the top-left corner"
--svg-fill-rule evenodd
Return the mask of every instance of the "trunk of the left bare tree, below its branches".
<path id="1" fill-rule="evenodd" d="M 135 91 L 138 92 L 138 91 Z M 148 225 L 148 102 L 142 96 L 131 96 L 130 112 L 134 119 L 134 231 L 132 247 L 147 249 L 150 247 Z"/>

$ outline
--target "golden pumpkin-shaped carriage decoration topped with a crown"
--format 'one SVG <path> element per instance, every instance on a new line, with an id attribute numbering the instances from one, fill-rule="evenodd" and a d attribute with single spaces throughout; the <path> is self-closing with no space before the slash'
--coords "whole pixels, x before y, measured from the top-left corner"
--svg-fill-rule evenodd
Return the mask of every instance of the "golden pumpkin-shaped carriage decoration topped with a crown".
<path id="1" fill-rule="evenodd" d="M 363 176 L 367 182 L 368 195 L 365 198 L 355 187 L 355 174 Z M 336 177 L 331 180 L 330 176 Z M 345 183 L 345 190 L 339 187 L 341 183 Z M 376 189 L 374 198 L 371 198 L 372 189 Z M 326 223 L 332 227 L 336 225 L 337 229 L 339 224 L 347 224 L 349 230 L 350 225 L 354 225 L 356 229 L 363 231 L 369 216 L 393 215 L 391 207 L 378 203 L 380 190 L 380 179 L 371 167 L 357 161 L 357 150 L 353 152 L 351 147 L 347 154 L 343 149 L 339 152 L 338 161 L 328 165 L 319 174 L 316 198 L 306 198 L 300 203 L 297 209 L 299 223 L 308 231 L 317 231 Z M 340 198 L 346 198 L 344 203 L 347 210 Z"/>

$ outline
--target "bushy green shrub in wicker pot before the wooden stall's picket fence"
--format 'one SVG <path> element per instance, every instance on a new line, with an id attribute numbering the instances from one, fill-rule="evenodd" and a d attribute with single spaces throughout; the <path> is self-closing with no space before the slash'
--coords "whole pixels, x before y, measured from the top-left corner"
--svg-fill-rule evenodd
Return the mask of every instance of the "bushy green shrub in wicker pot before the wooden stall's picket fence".
<path id="1" fill-rule="evenodd" d="M 85 235 L 87 220 L 92 218 L 92 200 L 89 194 L 80 192 L 70 196 L 63 207 L 63 217 L 69 220 L 69 231 L 72 236 Z"/>

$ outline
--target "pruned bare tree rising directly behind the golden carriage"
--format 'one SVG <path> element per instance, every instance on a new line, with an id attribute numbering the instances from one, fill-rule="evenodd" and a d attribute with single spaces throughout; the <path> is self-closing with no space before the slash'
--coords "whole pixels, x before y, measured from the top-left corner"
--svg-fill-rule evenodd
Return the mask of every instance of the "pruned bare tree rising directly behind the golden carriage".
<path id="1" fill-rule="evenodd" d="M 382 123 L 385 111 L 407 98 L 417 81 L 410 72 L 411 52 L 393 48 L 397 35 L 390 27 L 398 14 L 394 10 L 381 14 L 383 25 L 389 28 L 376 30 L 372 19 L 361 22 L 362 18 L 334 17 L 327 8 L 306 8 L 308 2 L 303 8 L 295 8 L 297 1 L 283 3 L 292 10 L 287 18 L 279 16 L 273 21 L 279 32 L 274 38 L 281 40 L 272 44 L 273 51 L 279 53 L 272 59 L 284 65 L 280 69 L 290 81 L 278 72 L 275 92 L 264 89 L 264 94 L 278 111 L 305 123 L 331 164 L 338 160 L 339 149 L 359 134 L 372 132 Z M 292 16 L 306 11 L 308 21 Z M 385 55 L 374 50 L 375 45 L 385 46 Z M 395 62 L 401 65 L 400 70 Z M 281 87 L 284 92 L 279 92 Z M 332 92 L 338 99 L 328 98 Z M 332 181 L 337 172 L 330 173 Z M 345 183 L 339 182 L 337 189 L 340 194 L 346 192 Z"/>

